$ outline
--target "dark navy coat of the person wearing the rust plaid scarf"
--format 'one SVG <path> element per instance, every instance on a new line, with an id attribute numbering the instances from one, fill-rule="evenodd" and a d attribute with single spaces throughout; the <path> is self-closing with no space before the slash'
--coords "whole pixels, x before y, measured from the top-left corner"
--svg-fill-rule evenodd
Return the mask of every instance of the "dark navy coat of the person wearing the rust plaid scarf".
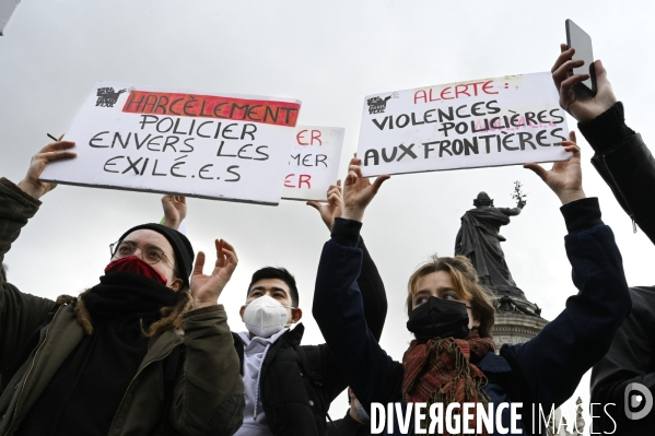
<path id="1" fill-rule="evenodd" d="M 488 377 L 484 390 L 491 402 L 523 403 L 518 424 L 526 435 L 539 434 L 539 423 L 531 416 L 538 408 L 533 404 L 548 414 L 551 406 L 570 398 L 630 313 L 621 255 L 611 229 L 600 221 L 597 199 L 574 201 L 561 211 L 569 229 L 566 254 L 580 293 L 566 301 L 563 313 L 537 337 L 523 344 L 505 344 L 500 356 L 490 352 L 477 365 Z M 335 224 L 320 257 L 313 314 L 349 386 L 371 415 L 373 402 L 402 402 L 403 369 L 379 346 L 362 316 L 355 282 L 361 252 L 352 243 L 360 226 L 346 220 Z M 503 427 L 508 428 L 510 419 L 505 409 Z M 502 434 L 494 423 L 498 433 L 493 434 Z M 546 427 L 541 431 L 545 434 Z M 397 423 L 390 434 L 402 434 Z"/>

